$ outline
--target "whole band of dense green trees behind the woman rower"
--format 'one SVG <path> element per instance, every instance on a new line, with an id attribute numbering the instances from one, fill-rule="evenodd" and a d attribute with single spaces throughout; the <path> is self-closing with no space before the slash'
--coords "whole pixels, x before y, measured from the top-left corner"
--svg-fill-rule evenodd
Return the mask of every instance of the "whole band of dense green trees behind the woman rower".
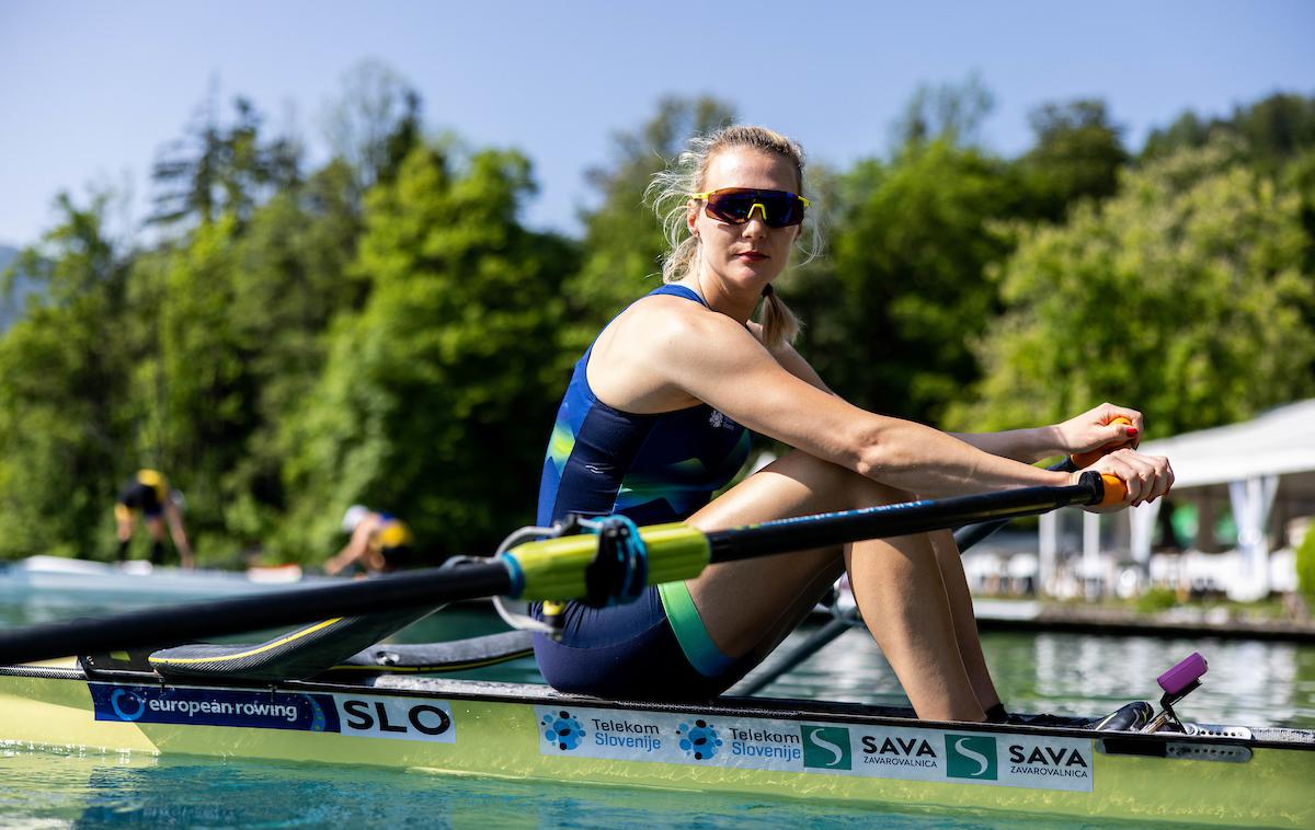
<path id="1" fill-rule="evenodd" d="M 155 165 L 150 242 L 107 230 L 112 194 L 59 198 L 3 282 L 26 298 L 0 332 L 0 558 L 109 557 L 141 466 L 210 565 L 320 562 L 358 502 L 427 561 L 530 520 L 571 364 L 656 284 L 650 176 L 734 109 L 664 100 L 618 133 L 569 239 L 523 225 L 522 154 L 425 138 L 383 67 L 345 87 L 316 169 L 250 102 L 206 105 Z M 828 251 L 778 288 L 832 387 L 973 429 L 1115 399 L 1152 435 L 1315 394 L 1315 100 L 1189 113 L 1136 154 L 1103 102 L 1056 102 L 1014 159 L 976 142 L 990 106 L 974 79 L 919 89 L 889 155 L 810 169 Z"/>

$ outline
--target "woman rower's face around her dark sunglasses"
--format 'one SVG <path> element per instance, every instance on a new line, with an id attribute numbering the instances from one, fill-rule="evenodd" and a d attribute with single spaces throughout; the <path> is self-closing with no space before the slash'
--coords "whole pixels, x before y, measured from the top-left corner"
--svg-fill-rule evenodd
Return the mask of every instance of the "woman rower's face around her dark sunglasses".
<path id="1" fill-rule="evenodd" d="M 784 156 L 746 147 L 718 152 L 707 164 L 702 190 L 753 188 L 800 192 L 794 165 Z M 734 225 L 707 215 L 705 202 L 690 200 L 686 222 L 702 246 L 702 264 L 730 284 L 760 292 L 785 269 L 800 226 L 769 227 L 763 211 Z"/>

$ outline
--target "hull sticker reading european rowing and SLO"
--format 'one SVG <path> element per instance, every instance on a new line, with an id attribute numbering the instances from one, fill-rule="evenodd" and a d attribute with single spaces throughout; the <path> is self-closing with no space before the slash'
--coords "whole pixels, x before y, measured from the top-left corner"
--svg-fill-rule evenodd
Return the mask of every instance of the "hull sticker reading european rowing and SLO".
<path id="1" fill-rule="evenodd" d="M 97 721 L 326 732 L 454 743 L 443 700 L 88 683 Z"/>

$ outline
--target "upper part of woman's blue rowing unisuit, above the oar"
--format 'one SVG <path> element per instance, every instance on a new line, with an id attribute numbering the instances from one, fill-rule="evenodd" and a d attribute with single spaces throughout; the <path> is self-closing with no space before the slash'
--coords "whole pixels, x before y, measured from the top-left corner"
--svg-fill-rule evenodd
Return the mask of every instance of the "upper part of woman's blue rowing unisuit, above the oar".
<path id="1" fill-rule="evenodd" d="M 682 285 L 651 294 L 704 303 Z M 748 457 L 748 429 L 706 403 L 635 415 L 598 401 L 585 351 L 558 410 L 539 481 L 538 523 L 567 513 L 622 513 L 638 524 L 679 521 L 725 487 Z"/>

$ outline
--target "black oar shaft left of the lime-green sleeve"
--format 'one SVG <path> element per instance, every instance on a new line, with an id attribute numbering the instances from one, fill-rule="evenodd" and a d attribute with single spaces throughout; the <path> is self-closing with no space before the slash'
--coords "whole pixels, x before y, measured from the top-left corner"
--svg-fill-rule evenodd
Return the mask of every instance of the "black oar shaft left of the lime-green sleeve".
<path id="1" fill-rule="evenodd" d="M 380 608 L 442 605 L 510 590 L 498 562 L 427 569 L 342 584 L 289 588 L 0 630 L 0 666 L 126 649 L 159 649 L 209 637 L 347 617 Z"/>

